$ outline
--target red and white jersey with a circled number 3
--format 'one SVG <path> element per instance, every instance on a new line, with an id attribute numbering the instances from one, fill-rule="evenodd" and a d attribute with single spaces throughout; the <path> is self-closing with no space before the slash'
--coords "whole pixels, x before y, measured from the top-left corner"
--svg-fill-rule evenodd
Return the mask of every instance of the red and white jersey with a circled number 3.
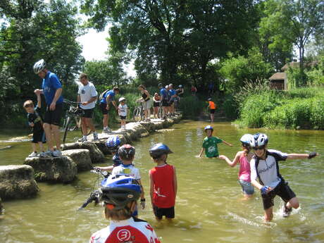
<path id="1" fill-rule="evenodd" d="M 138 218 L 111 221 L 111 224 L 95 232 L 89 243 L 161 243 L 149 223 Z"/>

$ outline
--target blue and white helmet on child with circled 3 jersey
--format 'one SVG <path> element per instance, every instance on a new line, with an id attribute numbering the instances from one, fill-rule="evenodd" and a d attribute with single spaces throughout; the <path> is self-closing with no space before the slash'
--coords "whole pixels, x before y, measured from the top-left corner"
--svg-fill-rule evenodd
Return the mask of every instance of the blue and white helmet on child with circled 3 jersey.
<path id="1" fill-rule="evenodd" d="M 141 194 L 137 180 L 130 175 L 116 175 L 101 182 L 100 201 L 111 204 L 112 210 L 125 208 L 130 201 L 137 201 Z"/>

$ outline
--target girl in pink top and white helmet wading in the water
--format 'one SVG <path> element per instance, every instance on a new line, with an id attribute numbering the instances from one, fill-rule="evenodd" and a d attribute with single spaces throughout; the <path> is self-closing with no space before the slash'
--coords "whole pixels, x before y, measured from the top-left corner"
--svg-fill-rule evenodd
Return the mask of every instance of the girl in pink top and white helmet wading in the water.
<path id="1" fill-rule="evenodd" d="M 242 142 L 242 151 L 238 151 L 233 161 L 230 161 L 225 155 L 220 155 L 219 158 L 225 160 L 230 167 L 234 167 L 239 163 L 239 185 L 242 187 L 242 192 L 245 198 L 250 198 L 254 194 L 254 187 L 251 185 L 251 168 L 250 161 L 253 156 L 251 153 L 250 140 L 253 136 L 244 134 L 239 141 Z"/>

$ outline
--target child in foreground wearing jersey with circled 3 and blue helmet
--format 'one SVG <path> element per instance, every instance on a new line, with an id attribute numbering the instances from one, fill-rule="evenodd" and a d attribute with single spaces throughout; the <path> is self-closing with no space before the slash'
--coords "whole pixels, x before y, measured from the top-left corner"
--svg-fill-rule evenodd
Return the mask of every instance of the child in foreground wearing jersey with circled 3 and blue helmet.
<path id="1" fill-rule="evenodd" d="M 108 177 L 101 183 L 99 192 L 105 217 L 111 220 L 111 223 L 108 227 L 95 232 L 90 238 L 90 243 L 160 243 L 149 223 L 132 217 L 141 194 L 141 187 L 134 177 L 129 175 Z"/>

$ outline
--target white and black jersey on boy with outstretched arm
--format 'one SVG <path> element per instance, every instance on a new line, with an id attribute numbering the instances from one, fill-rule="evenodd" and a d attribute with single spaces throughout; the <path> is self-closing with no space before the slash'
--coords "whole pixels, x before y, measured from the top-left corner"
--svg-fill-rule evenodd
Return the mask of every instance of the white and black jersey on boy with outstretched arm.
<path id="1" fill-rule="evenodd" d="M 268 149 L 266 153 L 266 160 L 260 159 L 258 161 L 258 168 L 256 168 L 257 158 L 254 156 L 251 159 L 251 180 L 256 180 L 259 175 L 263 185 L 275 188 L 281 181 L 278 175 L 279 168 L 277 168 L 276 161 L 285 161 L 288 155 L 274 149 Z M 256 173 L 256 170 L 258 170 L 258 173 Z"/>

